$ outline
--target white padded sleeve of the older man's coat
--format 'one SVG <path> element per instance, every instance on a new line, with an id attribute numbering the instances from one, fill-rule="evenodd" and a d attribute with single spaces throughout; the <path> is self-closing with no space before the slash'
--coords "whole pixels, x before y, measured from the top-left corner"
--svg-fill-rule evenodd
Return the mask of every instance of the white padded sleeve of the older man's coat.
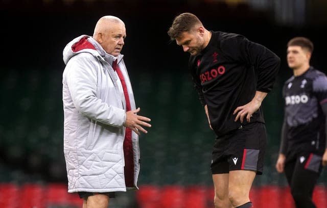
<path id="1" fill-rule="evenodd" d="M 74 106 L 84 116 L 111 126 L 122 126 L 126 119 L 124 109 L 109 106 L 96 96 L 97 70 L 101 70 L 92 55 L 75 56 L 66 68 L 63 80 L 71 94 Z"/>

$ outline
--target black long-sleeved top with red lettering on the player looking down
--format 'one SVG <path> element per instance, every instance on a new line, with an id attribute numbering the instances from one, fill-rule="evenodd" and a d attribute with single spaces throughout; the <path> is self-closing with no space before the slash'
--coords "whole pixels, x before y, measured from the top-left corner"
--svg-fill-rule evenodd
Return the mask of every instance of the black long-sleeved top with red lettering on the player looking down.
<path id="1" fill-rule="evenodd" d="M 190 57 L 194 87 L 202 105 L 207 105 L 217 136 L 242 125 L 234 121 L 233 111 L 250 102 L 255 91 L 272 90 L 280 63 L 281 59 L 265 46 L 224 32 L 212 32 L 201 54 Z M 261 107 L 252 116 L 250 122 L 265 122 Z"/>

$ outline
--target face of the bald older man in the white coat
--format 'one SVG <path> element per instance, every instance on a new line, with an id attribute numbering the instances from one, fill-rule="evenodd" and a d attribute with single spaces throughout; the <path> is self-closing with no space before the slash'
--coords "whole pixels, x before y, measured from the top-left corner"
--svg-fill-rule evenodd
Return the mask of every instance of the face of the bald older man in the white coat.
<path id="1" fill-rule="evenodd" d="M 123 48 L 124 39 L 126 38 L 126 29 L 123 23 L 112 23 L 110 29 L 103 34 L 101 46 L 114 57 L 118 56 Z"/>

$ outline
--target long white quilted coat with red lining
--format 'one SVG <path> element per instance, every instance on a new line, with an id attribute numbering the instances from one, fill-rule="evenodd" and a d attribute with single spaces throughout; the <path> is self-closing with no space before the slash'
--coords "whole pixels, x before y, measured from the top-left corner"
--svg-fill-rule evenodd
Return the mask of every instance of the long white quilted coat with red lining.
<path id="1" fill-rule="evenodd" d="M 73 49 L 85 37 L 84 44 Z M 115 59 L 118 59 L 125 76 L 133 110 L 135 101 L 123 55 L 113 57 L 106 54 L 96 40 L 85 35 L 69 42 L 63 50 L 66 67 L 62 100 L 68 192 L 137 189 L 139 146 L 134 132 L 134 186 L 125 186 L 123 123 L 126 102 L 119 77 L 111 67 Z"/>

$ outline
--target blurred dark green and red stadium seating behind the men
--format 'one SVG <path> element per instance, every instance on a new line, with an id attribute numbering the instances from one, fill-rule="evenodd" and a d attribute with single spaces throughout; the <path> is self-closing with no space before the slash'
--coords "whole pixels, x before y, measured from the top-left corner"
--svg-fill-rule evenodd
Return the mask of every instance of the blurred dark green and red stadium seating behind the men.
<path id="1" fill-rule="evenodd" d="M 65 187 L 61 74 L 55 69 L 27 69 L 8 70 L 0 77 L 2 96 L 10 100 L 0 103 L 4 117 L 10 118 L 0 121 L 0 207 L 66 203 L 79 207 L 81 203 L 76 195 L 68 195 Z M 140 114 L 152 119 L 149 133 L 142 134 L 139 140 L 140 190 L 135 193 L 135 203 L 140 208 L 159 208 L 158 204 L 162 208 L 182 208 L 181 204 L 188 208 L 213 207 L 209 166 L 215 136 L 192 88 L 191 77 L 180 70 L 133 70 L 130 79 Z M 281 83 L 277 81 L 275 91 L 263 103 L 268 149 L 264 174 L 255 178 L 250 193 L 256 207 L 269 208 L 263 205 L 267 200 L 274 206 L 293 206 L 290 192 L 284 188 L 286 178 L 274 168 L 282 122 L 282 113 L 275 111 L 281 108 Z M 323 171 L 314 195 L 319 208 L 327 207 L 326 176 Z M 272 200 L 271 196 L 278 199 Z M 124 203 L 119 200 L 117 204 Z"/>

